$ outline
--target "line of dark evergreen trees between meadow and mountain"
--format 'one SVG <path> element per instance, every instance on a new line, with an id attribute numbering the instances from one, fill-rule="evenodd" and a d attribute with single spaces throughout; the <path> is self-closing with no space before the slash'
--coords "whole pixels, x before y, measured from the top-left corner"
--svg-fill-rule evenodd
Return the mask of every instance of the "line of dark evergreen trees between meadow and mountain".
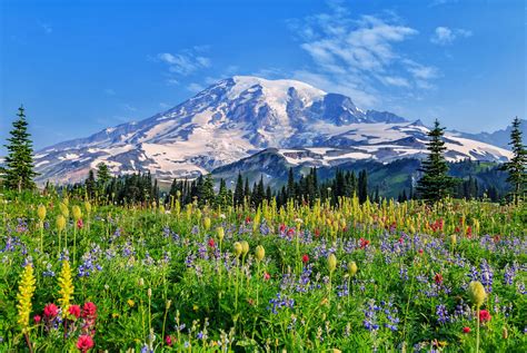
<path id="1" fill-rule="evenodd" d="M 456 197 L 481 197 L 487 196 L 491 200 L 499 199 L 500 195 L 496 187 L 489 186 L 480 188 L 476 178 L 459 179 L 449 175 L 449 165 L 445 158 L 445 140 L 443 138 L 445 128 L 439 121 L 434 122 L 434 128 L 428 131 L 427 157 L 421 161 L 419 168 L 420 178 L 414 189 L 411 185 L 408 189 L 401 190 L 398 200 L 420 198 L 429 203 L 435 203 L 446 196 Z M 519 203 L 526 194 L 526 164 L 527 149 L 523 144 L 520 120 L 516 117 L 513 121 L 510 143 L 513 158 L 504 163 L 500 170 L 507 171 L 507 182 L 510 185 L 508 200 Z M 12 122 L 10 137 L 7 139 L 6 148 L 8 155 L 3 167 L 0 168 L 0 186 L 4 189 L 34 190 L 34 177 L 38 174 L 33 168 L 33 147 L 31 135 L 28 133 L 28 121 L 24 108 L 21 106 L 17 114 L 17 119 Z M 97 177 L 96 177 L 97 174 Z M 46 184 L 44 192 L 57 192 L 49 183 Z M 160 192 L 158 180 L 147 173 L 136 173 L 129 175 L 111 176 L 108 166 L 103 163 L 97 166 L 97 170 L 89 170 L 83 183 L 60 186 L 59 192 L 78 194 L 80 197 L 96 198 L 103 197 L 112 203 L 146 203 L 160 202 L 178 197 L 181 203 L 197 202 L 200 205 L 238 206 L 249 204 L 260 205 L 264 200 L 275 199 L 278 205 L 285 205 L 288 200 L 311 204 L 316 199 L 329 199 L 336 203 L 341 196 L 357 195 L 361 203 L 367 198 L 379 200 L 378 187 L 370 192 L 368 187 L 368 173 L 366 169 L 355 174 L 355 171 L 336 170 L 335 177 L 319 180 L 317 169 L 311 168 L 299 179 L 295 179 L 292 168 L 289 169 L 287 184 L 280 188 L 272 189 L 269 184 L 265 185 L 261 176 L 252 185 L 241 173 L 238 175 L 233 188 L 228 187 L 226 180 L 220 179 L 219 186 L 215 187 L 212 176 L 199 176 L 196 179 L 173 180 L 170 190 L 165 195 Z"/>

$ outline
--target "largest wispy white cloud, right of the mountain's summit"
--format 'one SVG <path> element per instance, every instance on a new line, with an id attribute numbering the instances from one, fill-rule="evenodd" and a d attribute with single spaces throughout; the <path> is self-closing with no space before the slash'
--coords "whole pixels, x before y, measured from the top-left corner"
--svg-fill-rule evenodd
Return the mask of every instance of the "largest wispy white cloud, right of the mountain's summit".
<path id="1" fill-rule="evenodd" d="M 436 68 L 405 56 L 399 46 L 418 35 L 394 12 L 351 17 L 341 2 L 330 2 L 329 13 L 290 20 L 289 27 L 312 67 L 295 72 L 325 90 L 349 95 L 370 108 L 386 97 L 382 91 L 430 88 Z"/>

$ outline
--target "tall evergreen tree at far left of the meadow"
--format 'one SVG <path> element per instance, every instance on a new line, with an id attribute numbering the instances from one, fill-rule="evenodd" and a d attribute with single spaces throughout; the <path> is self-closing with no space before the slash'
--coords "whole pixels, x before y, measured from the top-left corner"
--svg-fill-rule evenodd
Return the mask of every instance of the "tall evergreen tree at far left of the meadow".
<path id="1" fill-rule="evenodd" d="M 9 189 L 21 190 L 33 189 L 33 177 L 38 174 L 33 170 L 33 145 L 28 133 L 28 121 L 22 106 L 18 109 L 18 119 L 13 121 L 13 129 L 9 133 L 9 144 L 6 145 L 8 156 L 6 157 L 6 186 Z"/>

